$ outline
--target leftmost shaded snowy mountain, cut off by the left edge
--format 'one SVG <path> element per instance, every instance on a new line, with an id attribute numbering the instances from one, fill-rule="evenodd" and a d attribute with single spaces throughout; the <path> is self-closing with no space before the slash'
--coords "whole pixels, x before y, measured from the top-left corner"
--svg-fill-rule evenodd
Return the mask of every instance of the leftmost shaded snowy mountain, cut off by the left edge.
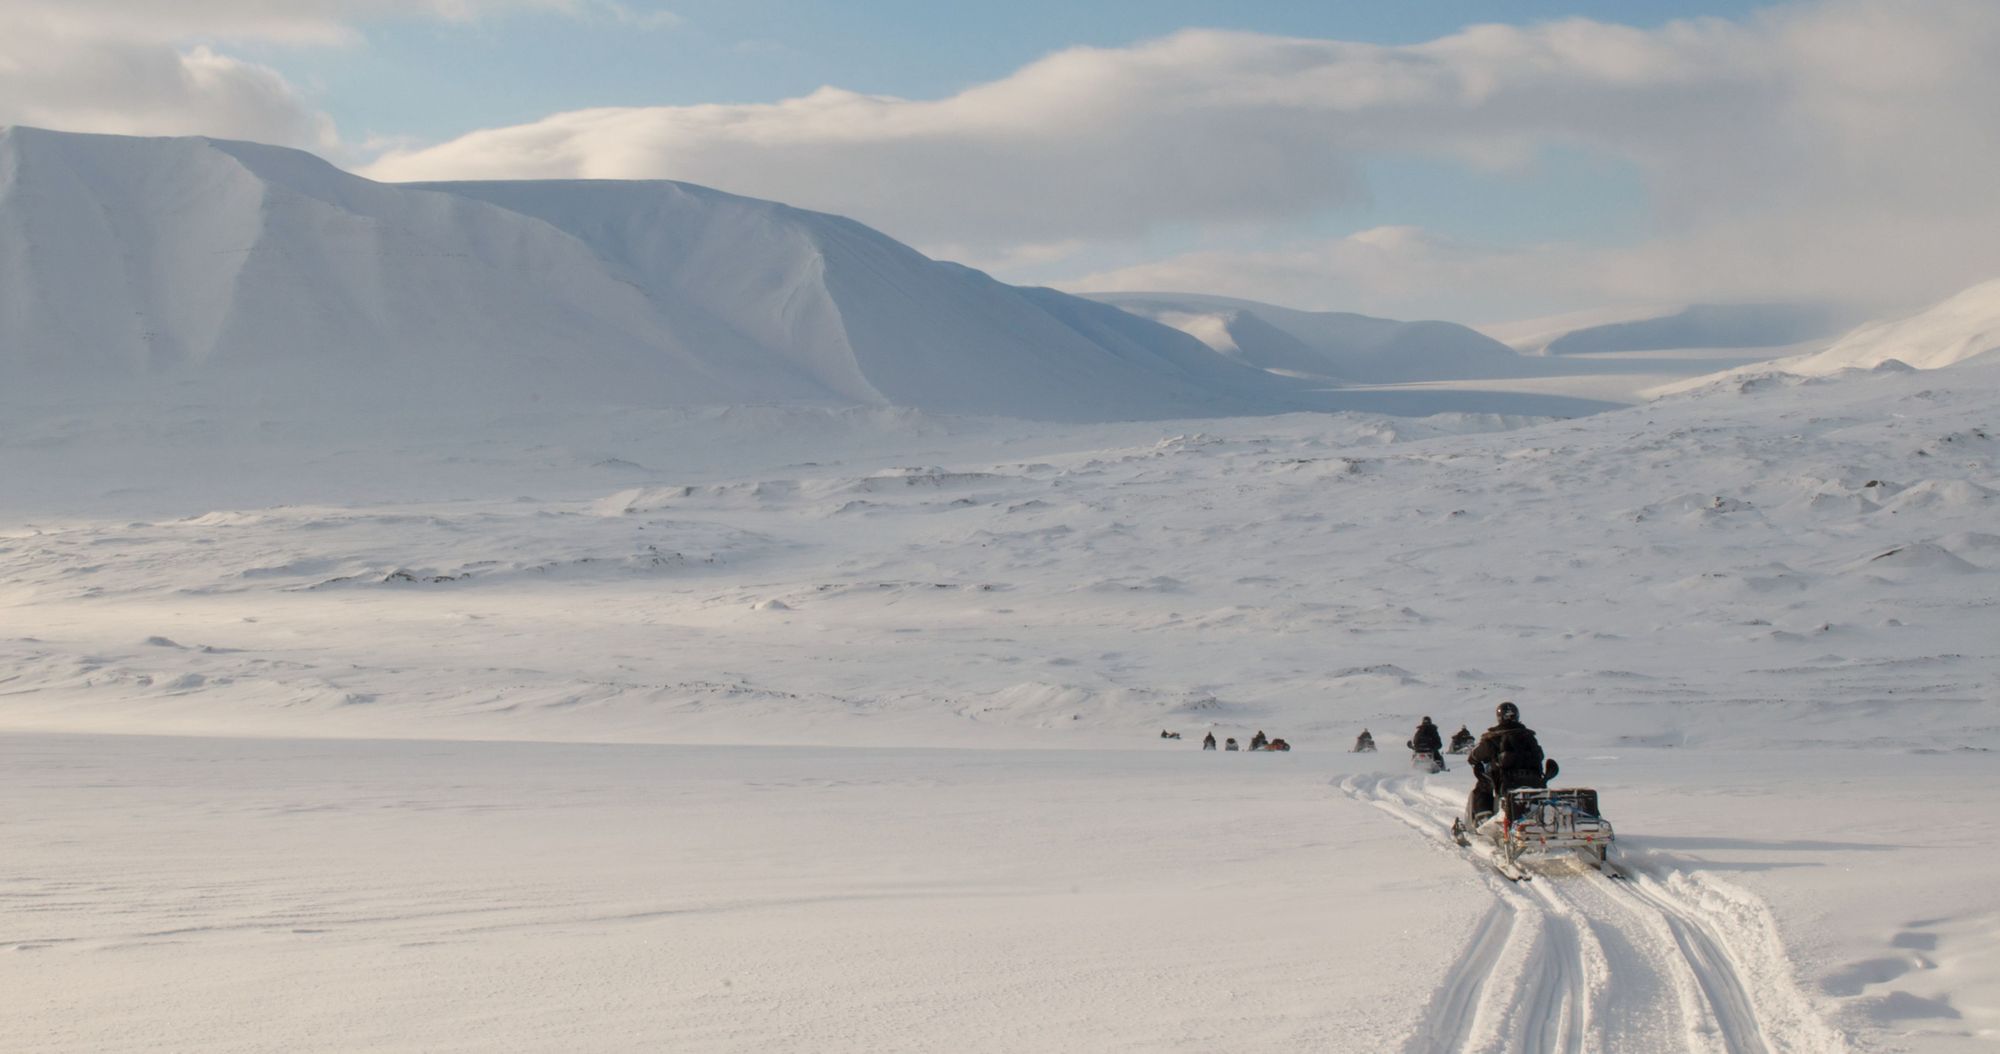
<path id="1" fill-rule="evenodd" d="M 492 206 L 266 146 L 0 132 L 18 398 L 702 402 L 756 392 L 742 366 L 706 368 L 586 246 Z"/>

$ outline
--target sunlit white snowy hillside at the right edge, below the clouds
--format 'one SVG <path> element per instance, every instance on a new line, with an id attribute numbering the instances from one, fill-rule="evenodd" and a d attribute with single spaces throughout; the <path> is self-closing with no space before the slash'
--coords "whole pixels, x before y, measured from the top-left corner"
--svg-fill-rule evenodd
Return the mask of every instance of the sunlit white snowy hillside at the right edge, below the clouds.
<path id="1" fill-rule="evenodd" d="M 2000 352 L 2000 278 L 1906 318 L 1866 322 L 1824 350 L 1700 376 L 1656 394 L 1740 384 L 1772 374 L 1828 376 L 1840 370 L 1896 368 L 1894 364 L 1938 370 L 1990 352 Z"/>

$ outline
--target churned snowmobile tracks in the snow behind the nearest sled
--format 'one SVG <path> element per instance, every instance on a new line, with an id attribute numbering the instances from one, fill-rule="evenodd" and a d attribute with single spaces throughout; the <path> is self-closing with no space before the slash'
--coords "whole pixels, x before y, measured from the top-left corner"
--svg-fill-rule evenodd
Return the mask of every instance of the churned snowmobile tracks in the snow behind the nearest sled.
<path id="1" fill-rule="evenodd" d="M 1372 804 L 1450 838 L 1462 788 L 1418 776 L 1348 776 Z M 1472 860 L 1494 906 L 1464 942 L 1406 1054 L 1592 1050 L 1820 1054 L 1846 1050 L 1790 976 L 1770 914 L 1700 874 L 1630 870 L 1610 882 L 1570 862 L 1508 882 Z"/>

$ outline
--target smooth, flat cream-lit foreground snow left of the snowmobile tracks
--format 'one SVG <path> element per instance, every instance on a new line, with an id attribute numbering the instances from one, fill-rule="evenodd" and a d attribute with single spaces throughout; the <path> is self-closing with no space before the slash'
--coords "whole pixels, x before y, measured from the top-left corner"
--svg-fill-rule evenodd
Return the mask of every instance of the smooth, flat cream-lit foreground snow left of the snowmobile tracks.
<path id="1" fill-rule="evenodd" d="M 1298 754 L 0 752 L 20 1052 L 1384 1050 L 1466 900 Z"/>

